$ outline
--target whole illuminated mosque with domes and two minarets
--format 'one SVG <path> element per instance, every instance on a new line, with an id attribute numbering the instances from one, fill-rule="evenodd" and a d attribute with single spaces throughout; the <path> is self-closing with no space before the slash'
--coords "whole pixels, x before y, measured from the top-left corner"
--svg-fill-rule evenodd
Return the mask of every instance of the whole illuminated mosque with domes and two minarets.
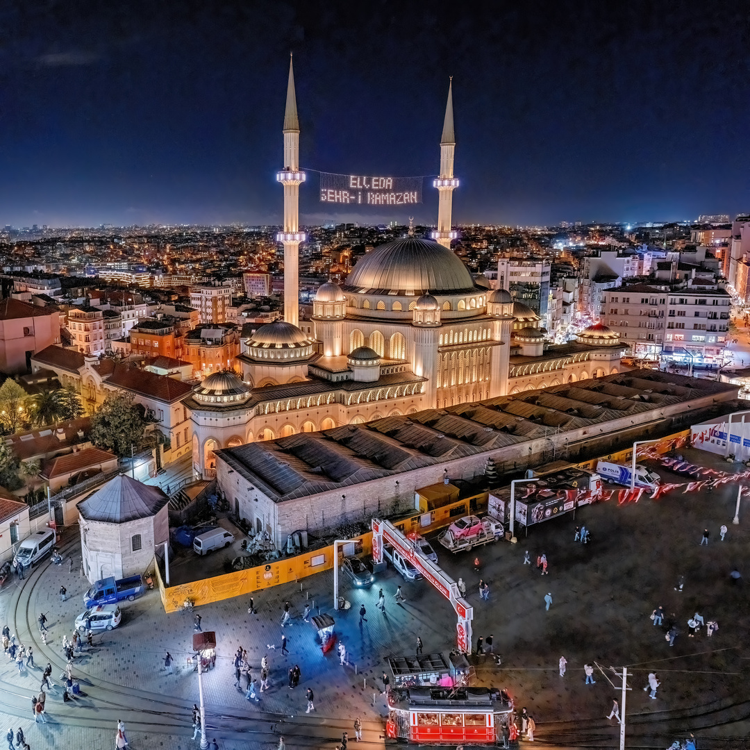
<path id="1" fill-rule="evenodd" d="M 202 381 L 184 405 L 193 464 L 213 475 L 213 452 L 256 440 L 440 410 L 619 370 L 625 347 L 607 326 L 550 345 L 534 311 L 474 278 L 450 249 L 455 153 L 452 85 L 440 139 L 437 231 L 362 257 L 342 286 L 321 284 L 299 321 L 299 119 L 290 62 L 284 113 L 284 320 L 260 326 L 239 356 L 242 377 Z"/>

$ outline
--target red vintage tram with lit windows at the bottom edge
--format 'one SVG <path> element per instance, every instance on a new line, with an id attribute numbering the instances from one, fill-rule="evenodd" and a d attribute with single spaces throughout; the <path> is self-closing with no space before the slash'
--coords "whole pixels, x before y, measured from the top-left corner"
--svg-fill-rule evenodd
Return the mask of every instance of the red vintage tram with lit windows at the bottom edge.
<path id="1" fill-rule="evenodd" d="M 496 688 L 394 688 L 386 736 L 424 745 L 517 746 L 513 701 Z"/>

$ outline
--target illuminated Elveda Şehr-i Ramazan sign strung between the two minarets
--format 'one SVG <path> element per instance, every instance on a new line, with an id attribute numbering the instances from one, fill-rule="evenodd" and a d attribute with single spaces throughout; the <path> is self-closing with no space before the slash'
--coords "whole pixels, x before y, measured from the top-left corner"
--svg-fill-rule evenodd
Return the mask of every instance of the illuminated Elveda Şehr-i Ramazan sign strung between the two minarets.
<path id="1" fill-rule="evenodd" d="M 320 173 L 320 202 L 345 205 L 413 205 L 422 202 L 422 177 Z"/>

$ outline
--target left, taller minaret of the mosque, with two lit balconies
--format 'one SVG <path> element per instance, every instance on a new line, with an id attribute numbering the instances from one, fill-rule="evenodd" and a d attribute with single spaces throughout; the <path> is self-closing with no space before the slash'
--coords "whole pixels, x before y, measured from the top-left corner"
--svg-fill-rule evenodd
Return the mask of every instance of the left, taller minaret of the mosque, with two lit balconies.
<path id="1" fill-rule="evenodd" d="M 299 118 L 292 55 L 283 131 L 284 169 L 277 173 L 276 179 L 284 185 L 284 231 L 278 233 L 276 239 L 284 243 L 284 320 L 296 326 L 299 323 L 299 243 L 305 242 L 305 233 L 299 231 L 299 186 L 305 181 L 305 172 L 299 169 Z"/>

